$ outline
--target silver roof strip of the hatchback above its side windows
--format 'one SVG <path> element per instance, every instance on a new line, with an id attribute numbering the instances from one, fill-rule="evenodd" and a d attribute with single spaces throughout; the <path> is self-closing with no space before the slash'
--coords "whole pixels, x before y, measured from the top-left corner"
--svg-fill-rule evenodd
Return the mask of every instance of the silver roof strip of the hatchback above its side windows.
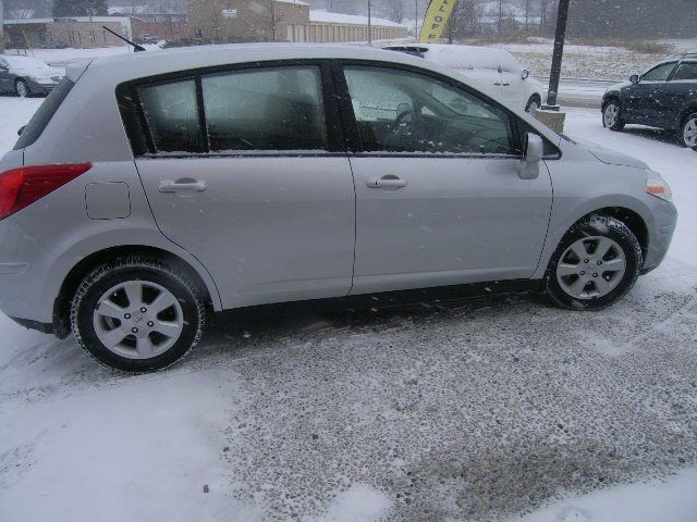
<path id="1" fill-rule="evenodd" d="M 327 44 L 230 44 L 134 52 L 83 63 L 90 76 L 121 82 L 193 69 L 274 60 L 357 59 L 424 66 L 423 60 L 367 46 Z"/>

